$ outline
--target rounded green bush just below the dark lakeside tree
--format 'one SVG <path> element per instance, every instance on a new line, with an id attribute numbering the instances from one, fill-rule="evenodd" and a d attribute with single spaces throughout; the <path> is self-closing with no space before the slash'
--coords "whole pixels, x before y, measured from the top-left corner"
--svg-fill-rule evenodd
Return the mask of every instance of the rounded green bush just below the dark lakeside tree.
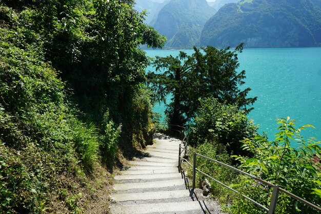
<path id="1" fill-rule="evenodd" d="M 244 153 L 240 140 L 252 138 L 257 126 L 235 105 L 219 103 L 217 99 L 200 101 L 194 123 L 189 127 L 188 142 L 200 145 L 205 141 L 224 145 L 234 154 Z"/>

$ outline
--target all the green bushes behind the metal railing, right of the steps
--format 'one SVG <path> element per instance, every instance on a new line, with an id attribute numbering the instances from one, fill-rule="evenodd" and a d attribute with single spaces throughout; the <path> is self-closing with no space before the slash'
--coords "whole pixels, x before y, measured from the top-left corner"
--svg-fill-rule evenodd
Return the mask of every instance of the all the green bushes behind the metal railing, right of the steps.
<path id="1" fill-rule="evenodd" d="M 189 128 L 188 143 L 191 150 L 226 164 L 233 164 L 263 180 L 296 194 L 314 204 L 321 205 L 319 164 L 320 141 L 305 140 L 300 131 L 311 125 L 295 128 L 295 121 L 277 119 L 278 133 L 274 141 L 258 135 L 256 126 L 236 106 L 218 103 L 215 99 L 201 101 L 194 123 Z M 293 148 L 293 145 L 297 145 Z M 230 154 L 233 155 L 232 160 Z M 190 157 L 192 160 L 192 157 Z M 238 165 L 240 163 L 240 165 Z M 197 157 L 197 168 L 229 185 L 249 198 L 269 207 L 272 188 L 227 167 Z M 189 174 L 191 168 L 189 167 Z M 206 177 L 196 173 L 196 183 Z M 220 199 L 229 213 L 266 213 L 250 201 L 211 181 L 213 196 Z M 278 197 L 277 213 L 313 213 L 307 207 L 284 193 Z"/>

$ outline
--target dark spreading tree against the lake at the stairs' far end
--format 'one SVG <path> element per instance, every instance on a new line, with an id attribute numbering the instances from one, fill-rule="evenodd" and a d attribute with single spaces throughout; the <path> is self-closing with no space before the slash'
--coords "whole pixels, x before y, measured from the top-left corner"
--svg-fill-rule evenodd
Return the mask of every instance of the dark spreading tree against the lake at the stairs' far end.
<path id="1" fill-rule="evenodd" d="M 245 71 L 237 72 L 237 53 L 242 52 L 243 44 L 235 50 L 218 50 L 212 46 L 197 49 L 188 56 L 180 52 L 178 56 L 158 57 L 153 64 L 155 72 L 149 72 L 150 88 L 156 94 L 156 101 L 166 102 L 172 94 L 172 102 L 167 105 L 169 123 L 183 126 L 195 116 L 199 99 L 214 98 L 219 103 L 236 105 L 248 113 L 253 108 L 255 98 L 247 98 L 250 88 L 240 90 L 245 82 Z M 162 72 L 162 73 L 159 73 Z"/>

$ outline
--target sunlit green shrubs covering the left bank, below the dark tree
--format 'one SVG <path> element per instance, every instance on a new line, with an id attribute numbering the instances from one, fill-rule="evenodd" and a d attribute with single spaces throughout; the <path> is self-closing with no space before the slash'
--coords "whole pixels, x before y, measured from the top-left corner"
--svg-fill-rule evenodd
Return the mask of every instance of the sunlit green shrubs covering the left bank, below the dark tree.
<path id="1" fill-rule="evenodd" d="M 2 15 L 19 17 L 11 9 Z M 98 134 L 76 118 L 41 37 L 15 21 L 0 28 L 0 213 L 50 212 L 65 176 L 86 180 Z"/>

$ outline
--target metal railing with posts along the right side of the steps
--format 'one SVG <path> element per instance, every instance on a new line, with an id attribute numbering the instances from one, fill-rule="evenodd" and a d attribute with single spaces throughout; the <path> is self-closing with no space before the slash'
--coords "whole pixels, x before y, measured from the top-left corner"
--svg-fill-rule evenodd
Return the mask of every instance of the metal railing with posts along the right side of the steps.
<path id="1" fill-rule="evenodd" d="M 192 153 L 192 154 L 193 154 L 193 164 L 191 164 L 187 159 L 185 159 L 184 157 L 182 157 L 183 151 L 186 151 L 186 152 L 188 152 L 188 153 Z M 269 208 L 265 207 L 265 206 L 262 205 L 262 204 L 259 204 L 258 202 L 254 201 L 253 199 L 250 199 L 249 197 L 245 196 L 244 194 L 240 193 L 239 191 L 237 191 L 237 190 L 235 190 L 235 189 L 227 186 L 226 184 L 224 184 L 224 183 L 222 183 L 222 182 L 214 179 L 213 177 L 209 176 L 209 175 L 206 174 L 205 172 L 199 170 L 199 169 L 196 167 L 196 164 L 197 164 L 197 160 L 196 160 L 196 159 L 197 159 L 197 156 L 199 156 L 199 157 L 201 157 L 201 158 L 204 158 L 204 159 L 207 159 L 207 160 L 210 160 L 210 161 L 213 161 L 213 162 L 215 162 L 215 163 L 217 163 L 217 164 L 219 164 L 219 165 L 225 166 L 225 167 L 227 167 L 227 168 L 230 168 L 230 169 L 232 169 L 232 170 L 234 170 L 234 171 L 237 171 L 237 172 L 239 172 L 239 173 L 242 173 L 242 174 L 244 174 L 245 176 L 248 176 L 248 177 L 250 177 L 250 178 L 252 178 L 252 179 L 254 179 L 254 180 L 256 180 L 256 181 L 259 181 L 259 182 L 261 182 L 261 183 L 263 183 L 263 184 L 266 184 L 266 185 L 272 187 L 272 188 L 273 188 L 273 191 L 272 191 L 272 197 L 271 197 L 271 201 L 270 201 L 270 206 L 269 206 Z M 190 151 L 190 150 L 188 150 L 186 147 L 182 147 L 182 145 L 179 144 L 179 150 L 178 150 L 178 170 L 179 170 L 179 172 L 182 171 L 182 168 L 181 168 L 182 161 L 186 161 L 186 163 L 193 168 L 193 178 L 192 178 L 192 189 L 193 189 L 193 190 L 194 190 L 194 188 L 195 188 L 195 179 L 196 179 L 196 171 L 197 171 L 197 172 L 199 172 L 199 173 L 204 174 L 204 176 L 208 177 L 209 179 L 217 182 L 218 184 L 220 184 L 220 185 L 222 185 L 222 186 L 230 189 L 231 191 L 233 191 L 233 192 L 235 192 L 235 193 L 237 193 L 237 194 L 240 194 L 243 198 L 249 200 L 249 201 L 252 202 L 253 204 L 255 204 L 255 205 L 263 208 L 264 210 L 266 210 L 266 211 L 268 212 L 268 214 L 274 214 L 274 213 L 275 213 L 275 208 L 276 208 L 277 198 L 278 198 L 279 192 L 283 192 L 283 193 L 287 194 L 288 196 L 292 197 L 293 199 L 296 199 L 296 200 L 298 200 L 298 201 L 300 201 L 300 202 L 302 202 L 302 203 L 304 203 L 304 204 L 306 204 L 306 205 L 314 208 L 314 209 L 317 210 L 317 211 L 321 211 L 321 208 L 318 207 L 317 205 L 315 205 L 315 204 L 313 204 L 313 203 L 311 203 L 311 202 L 308 202 L 308 201 L 304 200 L 303 198 L 300 198 L 300 197 L 296 196 L 295 194 L 293 194 L 293 193 L 291 193 L 291 192 L 289 192 L 289 191 L 287 191 L 287 190 L 285 190 L 285 189 L 283 189 L 283 188 L 280 188 L 278 185 L 274 185 L 274 184 L 272 184 L 272 183 L 270 183 L 270 182 L 268 182 L 268 181 L 265 181 L 265 180 L 262 180 L 262 179 L 260 179 L 260 178 L 257 178 L 257 177 L 255 177 L 255 176 L 253 176 L 252 174 L 249 174 L 249 173 L 247 173 L 247 172 L 245 172 L 245 171 L 239 170 L 239 169 L 237 169 L 237 168 L 235 168 L 235 167 L 233 167 L 233 166 L 230 166 L 230 165 L 227 165 L 227 164 L 225 164 L 225 163 L 222 163 L 222 162 L 219 162 L 219 161 L 217 161 L 217 160 L 214 160 L 214 159 L 211 159 L 211 158 L 209 158 L 209 157 L 206 157 L 205 155 L 202 155 L 202 154 L 199 154 L 199 153 Z"/>

